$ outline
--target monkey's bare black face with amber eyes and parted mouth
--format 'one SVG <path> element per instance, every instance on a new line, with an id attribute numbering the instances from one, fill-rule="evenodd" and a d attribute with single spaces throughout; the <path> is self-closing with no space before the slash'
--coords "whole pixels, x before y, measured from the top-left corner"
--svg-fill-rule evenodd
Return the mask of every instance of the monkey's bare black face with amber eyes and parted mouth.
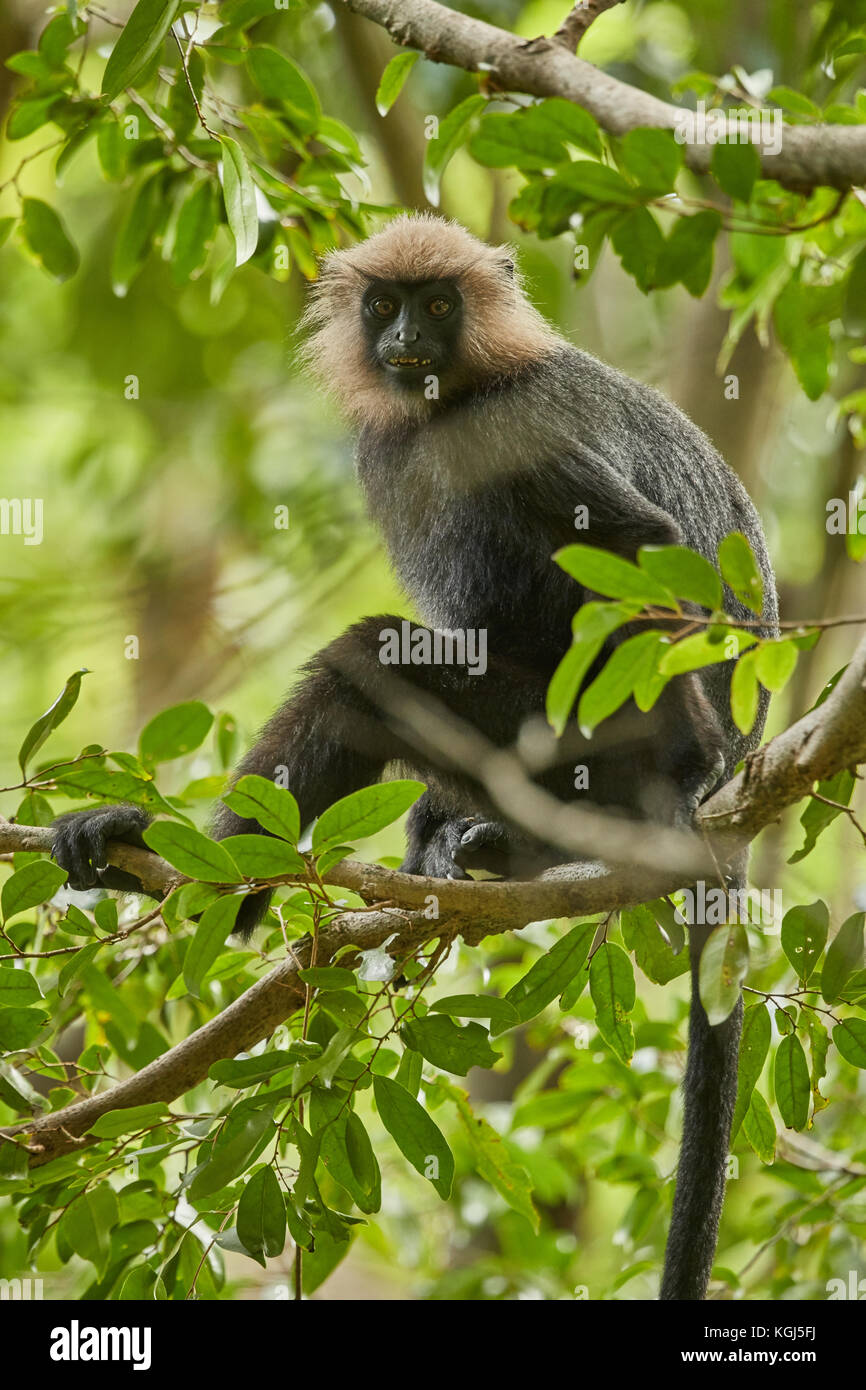
<path id="1" fill-rule="evenodd" d="M 456 368 L 461 320 L 463 296 L 450 279 L 377 279 L 361 300 L 371 360 L 405 391 L 424 391 Z"/>

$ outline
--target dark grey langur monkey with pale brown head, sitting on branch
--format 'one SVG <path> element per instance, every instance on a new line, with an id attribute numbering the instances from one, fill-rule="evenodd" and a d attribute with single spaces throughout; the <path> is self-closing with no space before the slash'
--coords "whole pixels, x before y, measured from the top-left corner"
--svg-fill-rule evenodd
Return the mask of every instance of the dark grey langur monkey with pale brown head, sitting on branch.
<path id="1" fill-rule="evenodd" d="M 573 346 L 530 302 L 514 253 L 456 222 L 405 214 L 331 252 L 304 317 L 304 356 L 356 434 L 367 510 L 421 621 L 418 649 L 442 634 L 484 632 L 485 670 L 384 662 L 393 614 L 361 619 L 307 662 L 235 776 L 275 777 L 304 824 L 335 799 L 414 769 L 427 790 L 407 823 L 403 870 L 467 877 L 539 873 L 562 862 L 544 838 L 518 834 L 485 798 L 477 770 L 418 734 L 405 695 L 435 699 L 499 748 L 544 720 L 545 692 L 571 642 L 577 609 L 595 595 L 553 560 L 575 538 L 634 560 L 641 546 L 687 545 L 716 562 L 731 531 L 748 538 L 763 577 L 759 632 L 777 628 L 773 570 L 758 513 L 709 439 L 655 389 Z M 575 517 L 585 525 L 575 534 Z M 735 619 L 753 614 L 726 589 Z M 628 627 L 606 644 L 589 680 Z M 574 720 L 569 758 L 537 781 L 574 801 L 574 763 L 592 805 L 638 820 L 689 826 L 763 730 L 733 721 L 734 660 L 676 677 L 649 713 L 630 703 L 592 739 Z M 56 823 L 54 858 L 72 887 L 117 884 L 108 840 L 142 842 L 135 806 L 74 812 Z M 213 833 L 263 833 L 228 806 Z M 727 866 L 744 881 L 745 856 Z M 268 894 L 249 895 L 249 935 Z M 737 1090 L 742 1004 L 710 1026 L 698 992 L 708 929 L 689 930 L 692 1004 L 685 1115 L 660 1297 L 701 1300 L 709 1282 Z"/>

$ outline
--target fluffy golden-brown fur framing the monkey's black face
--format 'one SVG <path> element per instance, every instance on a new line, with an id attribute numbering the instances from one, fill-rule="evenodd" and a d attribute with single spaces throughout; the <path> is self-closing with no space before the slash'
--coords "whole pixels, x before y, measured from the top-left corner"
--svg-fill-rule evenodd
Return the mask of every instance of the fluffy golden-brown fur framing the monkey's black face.
<path id="1" fill-rule="evenodd" d="M 562 342 L 525 297 L 512 247 L 488 246 L 432 213 L 403 214 L 367 240 L 325 256 L 303 318 L 310 331 L 304 360 L 359 425 L 418 420 L 435 409 L 420 395 L 391 388 L 370 364 L 359 311 L 370 278 L 457 281 L 468 381 L 512 373 Z"/>

